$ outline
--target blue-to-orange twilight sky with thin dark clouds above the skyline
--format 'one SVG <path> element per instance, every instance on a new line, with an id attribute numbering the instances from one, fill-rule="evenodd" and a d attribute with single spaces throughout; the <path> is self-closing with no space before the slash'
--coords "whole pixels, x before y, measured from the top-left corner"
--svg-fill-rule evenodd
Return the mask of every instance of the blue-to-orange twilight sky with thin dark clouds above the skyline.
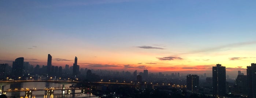
<path id="1" fill-rule="evenodd" d="M 0 0 L 0 63 L 149 72 L 246 73 L 255 0 Z"/>

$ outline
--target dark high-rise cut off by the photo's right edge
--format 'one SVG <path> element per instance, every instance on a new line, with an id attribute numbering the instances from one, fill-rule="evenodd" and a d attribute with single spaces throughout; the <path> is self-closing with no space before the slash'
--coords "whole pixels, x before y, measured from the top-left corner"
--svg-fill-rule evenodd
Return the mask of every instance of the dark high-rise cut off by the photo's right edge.
<path id="1" fill-rule="evenodd" d="M 247 92 L 248 98 L 256 98 L 256 64 L 247 66 Z"/>

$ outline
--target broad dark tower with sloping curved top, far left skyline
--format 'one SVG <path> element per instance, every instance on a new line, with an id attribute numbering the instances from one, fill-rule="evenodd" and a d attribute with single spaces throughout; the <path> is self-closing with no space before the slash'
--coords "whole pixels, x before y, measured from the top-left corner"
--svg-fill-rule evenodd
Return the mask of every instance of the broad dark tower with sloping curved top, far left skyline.
<path id="1" fill-rule="evenodd" d="M 14 79 L 17 79 L 18 77 L 21 77 L 23 75 L 23 64 L 24 64 L 24 58 L 19 57 L 15 59 L 14 62 L 12 62 L 12 76 Z"/>

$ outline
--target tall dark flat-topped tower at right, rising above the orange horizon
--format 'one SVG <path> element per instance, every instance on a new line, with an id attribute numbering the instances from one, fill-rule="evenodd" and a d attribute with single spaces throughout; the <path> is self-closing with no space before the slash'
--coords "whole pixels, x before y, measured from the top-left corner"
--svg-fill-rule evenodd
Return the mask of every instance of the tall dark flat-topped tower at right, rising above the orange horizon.
<path id="1" fill-rule="evenodd" d="M 212 67 L 212 85 L 214 96 L 226 94 L 226 67 L 221 66 L 221 64 Z"/>

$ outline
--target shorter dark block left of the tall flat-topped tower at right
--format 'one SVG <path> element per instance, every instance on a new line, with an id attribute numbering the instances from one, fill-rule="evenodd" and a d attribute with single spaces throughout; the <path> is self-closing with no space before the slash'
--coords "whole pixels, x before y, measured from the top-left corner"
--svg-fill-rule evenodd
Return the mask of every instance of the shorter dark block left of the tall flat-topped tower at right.
<path id="1" fill-rule="evenodd" d="M 192 93 L 197 93 L 199 88 L 199 76 L 187 75 L 187 89 Z"/>

